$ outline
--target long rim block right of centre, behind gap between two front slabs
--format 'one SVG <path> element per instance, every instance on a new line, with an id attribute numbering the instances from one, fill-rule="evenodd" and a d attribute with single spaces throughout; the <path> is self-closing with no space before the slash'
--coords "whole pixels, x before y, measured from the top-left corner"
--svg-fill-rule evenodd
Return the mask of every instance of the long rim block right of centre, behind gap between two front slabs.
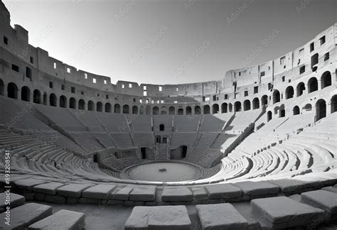
<path id="1" fill-rule="evenodd" d="M 256 197 L 260 195 L 277 194 L 279 187 L 268 182 L 237 182 L 236 187 L 240 187 L 244 195 Z"/>

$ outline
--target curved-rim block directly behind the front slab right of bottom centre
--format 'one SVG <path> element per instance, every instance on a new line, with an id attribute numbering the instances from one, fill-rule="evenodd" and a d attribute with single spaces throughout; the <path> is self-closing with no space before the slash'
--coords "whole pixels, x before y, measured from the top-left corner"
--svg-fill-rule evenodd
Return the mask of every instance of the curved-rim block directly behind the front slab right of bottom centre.
<path id="1" fill-rule="evenodd" d="M 205 186 L 205 190 L 208 192 L 209 199 L 235 198 L 242 195 L 240 188 L 231 184 L 208 185 Z"/>

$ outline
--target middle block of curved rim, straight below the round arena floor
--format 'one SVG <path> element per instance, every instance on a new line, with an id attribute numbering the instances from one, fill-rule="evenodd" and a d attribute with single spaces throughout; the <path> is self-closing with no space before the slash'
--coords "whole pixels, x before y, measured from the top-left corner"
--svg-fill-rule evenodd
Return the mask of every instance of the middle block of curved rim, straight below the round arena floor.
<path id="1" fill-rule="evenodd" d="M 161 200 L 163 202 L 191 202 L 193 193 L 188 187 L 164 187 Z"/>

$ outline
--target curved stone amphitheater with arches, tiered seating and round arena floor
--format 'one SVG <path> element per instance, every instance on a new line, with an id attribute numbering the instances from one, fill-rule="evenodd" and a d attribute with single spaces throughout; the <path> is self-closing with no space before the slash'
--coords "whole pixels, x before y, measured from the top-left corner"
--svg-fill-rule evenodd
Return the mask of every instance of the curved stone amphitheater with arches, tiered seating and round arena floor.
<path id="1" fill-rule="evenodd" d="M 336 229 L 337 24 L 223 80 L 112 84 L 0 8 L 0 229 Z"/>

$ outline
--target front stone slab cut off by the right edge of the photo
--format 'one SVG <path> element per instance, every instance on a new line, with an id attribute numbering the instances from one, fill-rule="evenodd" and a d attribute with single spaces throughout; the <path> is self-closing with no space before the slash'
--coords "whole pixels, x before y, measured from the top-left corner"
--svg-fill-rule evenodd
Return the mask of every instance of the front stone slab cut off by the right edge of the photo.
<path id="1" fill-rule="evenodd" d="M 301 202 L 323 209 L 331 215 L 337 214 L 337 193 L 324 190 L 303 192 Z"/>

